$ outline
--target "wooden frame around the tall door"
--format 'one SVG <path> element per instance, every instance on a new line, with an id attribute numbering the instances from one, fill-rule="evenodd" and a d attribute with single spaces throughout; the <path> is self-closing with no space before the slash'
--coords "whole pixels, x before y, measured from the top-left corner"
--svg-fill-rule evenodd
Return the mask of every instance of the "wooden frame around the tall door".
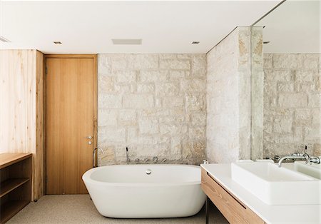
<path id="1" fill-rule="evenodd" d="M 97 73 L 97 54 L 44 54 L 44 195 L 46 195 L 46 91 L 47 91 L 47 73 L 46 60 L 47 58 L 92 58 L 93 59 L 93 148 L 97 147 L 97 105 L 98 105 L 98 73 Z M 96 154 L 97 157 L 97 154 Z M 97 158 L 96 158 L 97 159 Z"/>

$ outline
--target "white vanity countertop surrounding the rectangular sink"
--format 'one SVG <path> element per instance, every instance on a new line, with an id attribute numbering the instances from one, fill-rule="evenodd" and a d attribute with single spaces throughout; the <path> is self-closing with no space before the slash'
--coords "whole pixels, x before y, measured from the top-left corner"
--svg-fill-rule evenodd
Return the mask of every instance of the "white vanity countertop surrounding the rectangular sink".
<path id="1" fill-rule="evenodd" d="M 265 223 L 321 223 L 321 205 L 267 205 L 232 180 L 230 163 L 201 164 L 200 166 L 260 216 Z M 298 193 L 304 193 L 304 189 Z"/>

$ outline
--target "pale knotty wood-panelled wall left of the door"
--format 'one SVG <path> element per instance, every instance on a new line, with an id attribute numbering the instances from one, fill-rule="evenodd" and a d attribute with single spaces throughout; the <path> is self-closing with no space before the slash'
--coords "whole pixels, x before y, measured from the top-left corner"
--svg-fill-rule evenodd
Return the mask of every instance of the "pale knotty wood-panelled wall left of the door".
<path id="1" fill-rule="evenodd" d="M 32 200 L 44 194 L 44 54 L 0 51 L 0 153 L 33 153 Z"/>

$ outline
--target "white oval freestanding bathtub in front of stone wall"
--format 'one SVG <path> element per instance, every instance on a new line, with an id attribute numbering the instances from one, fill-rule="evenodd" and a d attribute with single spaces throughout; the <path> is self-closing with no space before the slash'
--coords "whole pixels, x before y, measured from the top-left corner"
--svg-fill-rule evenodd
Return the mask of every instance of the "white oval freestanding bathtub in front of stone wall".
<path id="1" fill-rule="evenodd" d="M 102 166 L 84 173 L 83 182 L 98 212 L 111 218 L 186 217 L 206 199 L 199 166 Z"/>

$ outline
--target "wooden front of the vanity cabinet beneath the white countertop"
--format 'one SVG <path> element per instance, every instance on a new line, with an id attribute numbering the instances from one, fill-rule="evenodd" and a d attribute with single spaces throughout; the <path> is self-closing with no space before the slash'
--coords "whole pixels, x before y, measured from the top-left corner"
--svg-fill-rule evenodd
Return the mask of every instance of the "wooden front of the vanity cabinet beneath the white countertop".
<path id="1" fill-rule="evenodd" d="M 201 187 L 229 223 L 265 223 L 202 168 Z"/>

